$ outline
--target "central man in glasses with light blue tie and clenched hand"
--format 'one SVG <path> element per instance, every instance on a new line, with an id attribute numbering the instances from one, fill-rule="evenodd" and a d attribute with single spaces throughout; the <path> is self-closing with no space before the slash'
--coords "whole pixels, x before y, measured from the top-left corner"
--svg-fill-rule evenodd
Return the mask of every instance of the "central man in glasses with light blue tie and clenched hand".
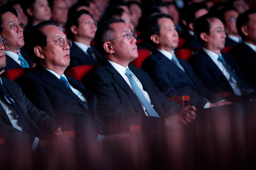
<path id="1" fill-rule="evenodd" d="M 138 57 L 137 35 L 123 19 L 102 23 L 95 47 L 106 58 L 84 84 L 95 92 L 97 111 L 111 127 L 142 126 L 142 131 L 172 130 L 195 119 L 195 107 L 181 108 L 159 92 L 146 72 L 128 65 Z"/>

